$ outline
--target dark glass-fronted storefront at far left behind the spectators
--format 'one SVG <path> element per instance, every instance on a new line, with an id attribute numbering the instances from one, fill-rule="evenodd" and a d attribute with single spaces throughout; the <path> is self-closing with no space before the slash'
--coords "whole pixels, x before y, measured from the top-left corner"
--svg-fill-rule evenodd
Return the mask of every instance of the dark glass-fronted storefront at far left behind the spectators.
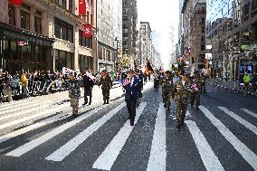
<path id="1" fill-rule="evenodd" d="M 0 23 L 0 68 L 14 71 L 52 71 L 54 39 Z"/>

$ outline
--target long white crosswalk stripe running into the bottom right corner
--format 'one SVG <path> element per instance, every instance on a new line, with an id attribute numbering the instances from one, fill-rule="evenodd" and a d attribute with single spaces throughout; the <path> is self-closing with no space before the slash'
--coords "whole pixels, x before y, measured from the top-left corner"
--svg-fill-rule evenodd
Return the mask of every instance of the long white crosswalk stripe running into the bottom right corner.
<path id="1" fill-rule="evenodd" d="M 224 126 L 224 124 L 214 117 L 214 115 L 206 109 L 204 106 L 199 107 L 205 116 L 211 120 L 220 133 L 226 138 L 233 147 L 240 153 L 240 155 L 252 166 L 254 170 L 257 170 L 257 156 L 252 152 L 251 149 L 246 147 L 243 142 L 236 138 L 233 133 Z"/>

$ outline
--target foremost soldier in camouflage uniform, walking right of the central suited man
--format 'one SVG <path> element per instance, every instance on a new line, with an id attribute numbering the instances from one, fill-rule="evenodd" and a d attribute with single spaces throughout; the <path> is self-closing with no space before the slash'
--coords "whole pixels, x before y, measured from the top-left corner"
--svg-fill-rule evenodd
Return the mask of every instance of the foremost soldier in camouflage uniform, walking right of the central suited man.
<path id="1" fill-rule="evenodd" d="M 181 75 L 181 81 L 176 81 L 172 90 L 172 100 L 176 101 L 176 128 L 181 128 L 184 125 L 186 118 L 186 110 L 189 99 L 190 84 L 186 81 L 186 75 Z"/>

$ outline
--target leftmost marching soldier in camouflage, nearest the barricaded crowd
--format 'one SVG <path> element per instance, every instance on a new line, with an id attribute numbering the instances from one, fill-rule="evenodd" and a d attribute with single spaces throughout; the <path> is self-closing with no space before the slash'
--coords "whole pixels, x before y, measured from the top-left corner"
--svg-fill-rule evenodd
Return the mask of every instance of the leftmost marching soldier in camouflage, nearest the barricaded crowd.
<path id="1" fill-rule="evenodd" d="M 80 81 L 76 79 L 76 73 L 71 73 L 69 78 L 69 98 L 71 98 L 72 116 L 77 116 L 79 114 L 79 97 L 81 95 Z"/>

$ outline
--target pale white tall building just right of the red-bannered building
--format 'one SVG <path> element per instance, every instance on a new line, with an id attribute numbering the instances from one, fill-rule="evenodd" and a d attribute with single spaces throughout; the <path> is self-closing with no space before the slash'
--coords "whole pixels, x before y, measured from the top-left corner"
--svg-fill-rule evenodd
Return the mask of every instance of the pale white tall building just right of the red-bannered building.
<path id="1" fill-rule="evenodd" d="M 117 41 L 121 42 L 122 0 L 97 0 L 98 70 L 115 70 Z"/>

